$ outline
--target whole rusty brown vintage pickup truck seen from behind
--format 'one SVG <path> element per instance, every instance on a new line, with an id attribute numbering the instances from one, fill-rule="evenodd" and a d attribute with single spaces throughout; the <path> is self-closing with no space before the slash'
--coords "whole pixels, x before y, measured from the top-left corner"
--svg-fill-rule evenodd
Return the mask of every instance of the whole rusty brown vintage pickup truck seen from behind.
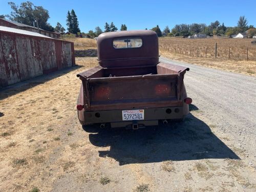
<path id="1" fill-rule="evenodd" d="M 188 68 L 159 62 L 154 31 L 102 33 L 99 66 L 79 73 L 77 111 L 82 125 L 139 129 L 188 114 L 183 78 Z"/>

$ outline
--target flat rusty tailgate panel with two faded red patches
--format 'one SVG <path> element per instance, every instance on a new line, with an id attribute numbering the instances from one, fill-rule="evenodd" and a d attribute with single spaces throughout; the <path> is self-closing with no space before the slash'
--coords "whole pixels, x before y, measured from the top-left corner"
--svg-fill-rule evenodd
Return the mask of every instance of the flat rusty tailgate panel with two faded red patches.
<path id="1" fill-rule="evenodd" d="M 88 79 L 90 107 L 179 100 L 178 74 Z"/>

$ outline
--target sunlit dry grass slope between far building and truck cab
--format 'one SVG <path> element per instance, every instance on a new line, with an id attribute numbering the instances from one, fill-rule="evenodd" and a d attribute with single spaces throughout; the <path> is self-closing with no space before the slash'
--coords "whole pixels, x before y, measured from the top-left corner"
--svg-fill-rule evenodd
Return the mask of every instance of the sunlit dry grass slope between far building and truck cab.
<path id="1" fill-rule="evenodd" d="M 63 40 L 74 42 L 75 50 L 97 49 L 97 41 L 89 38 L 62 37 Z"/>

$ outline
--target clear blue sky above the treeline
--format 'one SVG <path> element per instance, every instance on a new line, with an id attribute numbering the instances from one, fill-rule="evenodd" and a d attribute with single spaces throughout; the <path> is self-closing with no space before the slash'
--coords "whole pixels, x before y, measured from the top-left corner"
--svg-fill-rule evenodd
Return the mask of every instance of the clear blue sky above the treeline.
<path id="1" fill-rule="evenodd" d="M 0 0 L 0 14 L 11 12 L 8 2 Z M 13 0 L 20 4 L 23 1 Z M 49 11 L 49 23 L 55 27 L 59 22 L 66 27 L 68 10 L 74 9 L 80 30 L 88 32 L 99 26 L 102 30 L 105 22 L 114 22 L 120 29 L 125 24 L 128 30 L 151 29 L 159 25 L 172 29 L 176 24 L 205 23 L 215 20 L 225 26 L 236 26 L 240 15 L 245 15 L 249 25 L 256 26 L 256 1 L 67 1 L 67 0 L 31 0 L 36 6 Z"/>

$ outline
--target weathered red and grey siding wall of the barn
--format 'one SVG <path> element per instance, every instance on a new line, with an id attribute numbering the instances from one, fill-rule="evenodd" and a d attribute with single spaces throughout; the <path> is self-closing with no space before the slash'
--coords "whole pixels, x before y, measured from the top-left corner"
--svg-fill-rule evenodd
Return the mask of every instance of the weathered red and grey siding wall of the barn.
<path id="1" fill-rule="evenodd" d="M 0 31 L 0 87 L 74 65 L 73 42 Z"/>

